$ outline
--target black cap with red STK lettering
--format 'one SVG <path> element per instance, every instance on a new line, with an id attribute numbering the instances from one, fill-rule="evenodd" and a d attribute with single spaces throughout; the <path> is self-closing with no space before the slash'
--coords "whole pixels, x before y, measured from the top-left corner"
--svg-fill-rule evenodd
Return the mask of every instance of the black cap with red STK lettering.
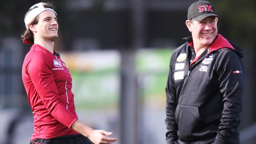
<path id="1" fill-rule="evenodd" d="M 217 16 L 216 10 L 210 2 L 199 0 L 189 6 L 187 10 L 187 19 L 200 21 L 209 16 Z"/>

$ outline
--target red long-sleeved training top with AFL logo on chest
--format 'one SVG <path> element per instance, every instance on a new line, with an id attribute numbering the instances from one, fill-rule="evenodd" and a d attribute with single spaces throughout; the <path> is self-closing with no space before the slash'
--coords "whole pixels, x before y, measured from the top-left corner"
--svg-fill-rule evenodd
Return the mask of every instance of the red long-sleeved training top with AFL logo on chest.
<path id="1" fill-rule="evenodd" d="M 31 140 L 78 134 L 70 129 L 78 119 L 72 78 L 58 53 L 33 44 L 24 59 L 22 80 L 34 118 Z"/>

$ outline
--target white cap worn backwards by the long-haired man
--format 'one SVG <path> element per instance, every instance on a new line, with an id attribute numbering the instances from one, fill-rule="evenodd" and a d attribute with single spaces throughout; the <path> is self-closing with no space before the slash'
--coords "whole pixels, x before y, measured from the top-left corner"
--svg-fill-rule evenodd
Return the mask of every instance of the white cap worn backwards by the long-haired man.
<path id="1" fill-rule="evenodd" d="M 26 15 L 24 17 L 24 22 L 25 22 L 27 29 L 28 29 L 28 24 L 43 11 L 46 11 L 46 10 L 53 11 L 55 13 L 55 15 L 57 15 L 57 13 L 53 9 L 47 8 L 47 7 L 45 8 L 44 4 L 45 3 L 40 2 L 40 3 L 35 4 L 34 6 L 30 7 L 30 9 L 28 10 L 28 12 L 26 13 Z"/>

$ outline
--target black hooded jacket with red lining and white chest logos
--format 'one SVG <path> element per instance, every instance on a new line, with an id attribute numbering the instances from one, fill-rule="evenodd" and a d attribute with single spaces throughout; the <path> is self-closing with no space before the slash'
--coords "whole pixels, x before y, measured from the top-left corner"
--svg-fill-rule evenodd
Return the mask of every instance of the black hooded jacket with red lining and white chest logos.
<path id="1" fill-rule="evenodd" d="M 166 86 L 167 144 L 239 144 L 243 50 L 217 35 L 189 65 L 188 42 L 174 50 Z"/>

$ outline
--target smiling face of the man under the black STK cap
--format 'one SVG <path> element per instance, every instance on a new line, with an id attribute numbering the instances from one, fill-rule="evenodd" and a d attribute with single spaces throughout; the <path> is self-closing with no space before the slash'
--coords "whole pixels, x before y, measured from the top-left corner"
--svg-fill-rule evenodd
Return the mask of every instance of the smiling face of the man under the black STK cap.
<path id="1" fill-rule="evenodd" d="M 209 46 L 217 35 L 218 18 L 215 16 L 206 17 L 201 21 L 187 20 L 186 25 L 192 33 L 193 44 L 198 48 Z"/>

